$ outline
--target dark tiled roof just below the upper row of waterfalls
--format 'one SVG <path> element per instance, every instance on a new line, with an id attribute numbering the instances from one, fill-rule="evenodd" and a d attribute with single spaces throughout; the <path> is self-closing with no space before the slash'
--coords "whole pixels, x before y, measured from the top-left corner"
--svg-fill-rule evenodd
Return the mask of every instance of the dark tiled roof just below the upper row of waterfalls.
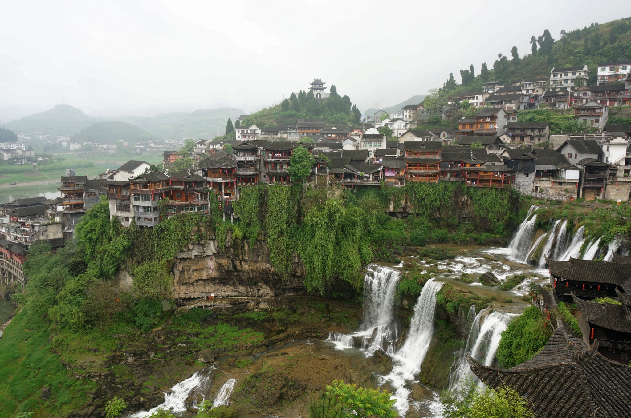
<path id="1" fill-rule="evenodd" d="M 550 274 L 565 280 L 586 281 L 589 283 L 609 283 L 620 285 L 631 276 L 631 264 L 604 263 L 602 261 L 570 258 L 567 266 L 550 264 Z"/>

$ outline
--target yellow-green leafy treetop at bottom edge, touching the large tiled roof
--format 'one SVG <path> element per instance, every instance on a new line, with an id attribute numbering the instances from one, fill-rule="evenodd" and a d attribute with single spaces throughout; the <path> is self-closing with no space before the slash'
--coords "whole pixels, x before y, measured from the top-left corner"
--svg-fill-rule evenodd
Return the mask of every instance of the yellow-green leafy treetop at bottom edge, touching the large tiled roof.
<path id="1" fill-rule="evenodd" d="M 440 396 L 444 418 L 532 418 L 533 412 L 512 387 L 482 391 L 473 381 L 457 392 Z"/>

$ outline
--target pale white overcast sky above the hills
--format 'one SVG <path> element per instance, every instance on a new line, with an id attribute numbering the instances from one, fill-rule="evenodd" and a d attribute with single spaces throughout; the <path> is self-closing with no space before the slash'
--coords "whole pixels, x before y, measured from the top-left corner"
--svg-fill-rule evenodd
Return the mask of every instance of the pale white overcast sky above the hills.
<path id="1" fill-rule="evenodd" d="M 529 50 L 531 35 L 631 16 L 631 1 L 3 2 L 0 120 L 65 102 L 91 115 L 252 111 L 314 77 L 360 110 Z"/>

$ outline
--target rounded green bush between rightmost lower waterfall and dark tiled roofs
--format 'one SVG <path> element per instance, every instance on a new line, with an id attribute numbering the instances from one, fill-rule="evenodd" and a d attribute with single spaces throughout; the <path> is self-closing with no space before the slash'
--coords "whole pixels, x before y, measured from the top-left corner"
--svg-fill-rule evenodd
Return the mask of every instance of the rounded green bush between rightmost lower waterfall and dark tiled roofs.
<path id="1" fill-rule="evenodd" d="M 502 339 L 497 349 L 497 361 L 500 368 L 509 369 L 533 358 L 542 349 L 552 335 L 546 317 L 534 306 L 513 319 L 502 332 Z"/>

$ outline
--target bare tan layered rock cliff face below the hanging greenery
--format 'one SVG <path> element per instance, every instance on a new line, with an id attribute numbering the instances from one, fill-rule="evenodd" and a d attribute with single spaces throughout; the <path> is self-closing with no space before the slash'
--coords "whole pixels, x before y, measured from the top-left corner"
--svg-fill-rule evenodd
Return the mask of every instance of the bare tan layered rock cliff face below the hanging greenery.
<path id="1" fill-rule="evenodd" d="M 218 249 L 216 240 L 189 244 L 171 263 L 175 298 L 274 297 L 304 295 L 304 266 L 293 257 L 290 276 L 281 277 L 269 263 L 269 247 L 257 240 L 250 247 L 228 235 L 227 246 Z"/>

